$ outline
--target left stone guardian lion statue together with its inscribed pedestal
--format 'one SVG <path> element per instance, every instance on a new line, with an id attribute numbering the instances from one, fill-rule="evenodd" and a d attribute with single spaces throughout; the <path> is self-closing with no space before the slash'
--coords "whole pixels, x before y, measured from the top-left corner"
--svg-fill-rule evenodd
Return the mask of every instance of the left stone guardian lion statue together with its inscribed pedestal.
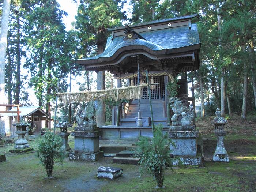
<path id="1" fill-rule="evenodd" d="M 75 137 L 75 149 L 69 153 L 69 160 L 97 161 L 104 156 L 104 152 L 99 151 L 99 135 L 102 131 L 96 126 L 94 114 L 94 103 L 91 101 L 86 104 L 85 110 L 78 112 L 78 126 L 71 132 L 71 136 Z"/>

